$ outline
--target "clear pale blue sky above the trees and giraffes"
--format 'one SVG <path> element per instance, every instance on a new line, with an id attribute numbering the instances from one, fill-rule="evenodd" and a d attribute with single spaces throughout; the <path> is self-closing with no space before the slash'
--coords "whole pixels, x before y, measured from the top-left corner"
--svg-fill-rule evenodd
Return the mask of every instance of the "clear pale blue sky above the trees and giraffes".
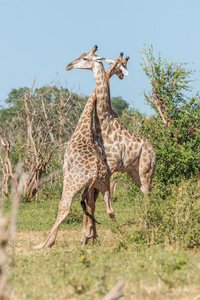
<path id="1" fill-rule="evenodd" d="M 141 71 L 144 43 L 171 62 L 194 62 L 200 69 L 199 0 L 0 0 L 0 104 L 13 88 L 58 83 L 90 95 L 93 74 L 65 71 L 66 65 L 95 44 L 98 55 L 130 56 L 129 76 L 111 79 L 111 96 L 122 96 L 141 112 L 152 114 L 141 95 L 150 85 Z M 107 66 L 105 65 L 107 68 Z M 194 83 L 199 89 L 200 74 Z"/>

